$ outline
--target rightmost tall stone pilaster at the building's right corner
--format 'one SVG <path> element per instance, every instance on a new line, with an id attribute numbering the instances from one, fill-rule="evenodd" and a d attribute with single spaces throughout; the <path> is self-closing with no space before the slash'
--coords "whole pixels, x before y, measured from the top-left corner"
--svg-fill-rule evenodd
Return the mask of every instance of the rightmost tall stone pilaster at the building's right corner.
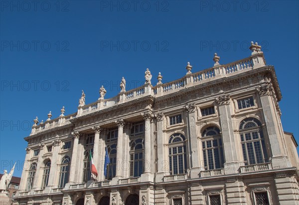
<path id="1" fill-rule="evenodd" d="M 286 156 L 282 156 L 281 147 L 279 144 L 279 122 L 276 120 L 276 106 L 273 103 L 272 95 L 273 88 L 271 85 L 261 86 L 257 89 L 265 117 L 266 131 L 268 133 L 269 142 L 272 152 L 272 166 L 273 168 L 289 167 L 290 162 Z"/>

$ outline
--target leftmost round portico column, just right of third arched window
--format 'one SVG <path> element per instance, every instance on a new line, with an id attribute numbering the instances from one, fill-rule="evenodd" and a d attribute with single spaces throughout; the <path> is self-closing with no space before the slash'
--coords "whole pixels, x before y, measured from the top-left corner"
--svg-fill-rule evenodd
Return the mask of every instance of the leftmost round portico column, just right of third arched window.
<path id="1" fill-rule="evenodd" d="M 69 177 L 69 183 L 75 183 L 76 175 L 78 175 L 77 165 L 77 154 L 78 154 L 78 144 L 79 144 L 79 138 L 80 134 L 78 131 L 72 132 L 74 141 L 73 141 L 73 150 L 72 150 L 72 159 L 71 159 L 71 168 L 70 168 L 70 177 Z"/>

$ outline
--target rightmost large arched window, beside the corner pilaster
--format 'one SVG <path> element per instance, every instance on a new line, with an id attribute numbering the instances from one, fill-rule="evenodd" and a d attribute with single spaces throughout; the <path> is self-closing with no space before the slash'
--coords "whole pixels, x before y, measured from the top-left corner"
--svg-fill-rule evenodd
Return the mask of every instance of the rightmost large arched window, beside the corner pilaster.
<path id="1" fill-rule="evenodd" d="M 239 129 L 245 165 L 268 162 L 262 123 L 249 117 L 240 123 Z"/>

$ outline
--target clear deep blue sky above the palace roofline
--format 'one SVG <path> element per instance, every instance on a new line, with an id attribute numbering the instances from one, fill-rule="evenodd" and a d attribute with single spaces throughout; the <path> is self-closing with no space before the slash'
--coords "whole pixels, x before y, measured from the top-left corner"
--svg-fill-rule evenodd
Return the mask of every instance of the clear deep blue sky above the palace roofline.
<path id="1" fill-rule="evenodd" d="M 135 2 L 135 3 L 133 3 Z M 250 56 L 262 45 L 274 65 L 285 131 L 299 137 L 299 1 L 6 1 L 0 0 L 0 171 L 17 162 L 21 175 L 33 119 L 77 111 L 105 85 L 111 98 L 124 76 L 130 89 Z M 128 86 L 127 86 L 128 90 Z"/>

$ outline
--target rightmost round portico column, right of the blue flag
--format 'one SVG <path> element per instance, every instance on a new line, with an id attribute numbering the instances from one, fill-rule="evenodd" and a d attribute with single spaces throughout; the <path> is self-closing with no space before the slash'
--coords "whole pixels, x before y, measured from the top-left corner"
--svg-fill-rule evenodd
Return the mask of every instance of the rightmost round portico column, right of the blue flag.
<path id="1" fill-rule="evenodd" d="M 150 120 L 152 118 L 152 113 L 147 111 L 143 114 L 145 120 L 145 151 L 144 151 L 144 174 L 151 173 L 151 167 L 153 166 L 151 163 L 151 156 L 150 156 Z"/>

